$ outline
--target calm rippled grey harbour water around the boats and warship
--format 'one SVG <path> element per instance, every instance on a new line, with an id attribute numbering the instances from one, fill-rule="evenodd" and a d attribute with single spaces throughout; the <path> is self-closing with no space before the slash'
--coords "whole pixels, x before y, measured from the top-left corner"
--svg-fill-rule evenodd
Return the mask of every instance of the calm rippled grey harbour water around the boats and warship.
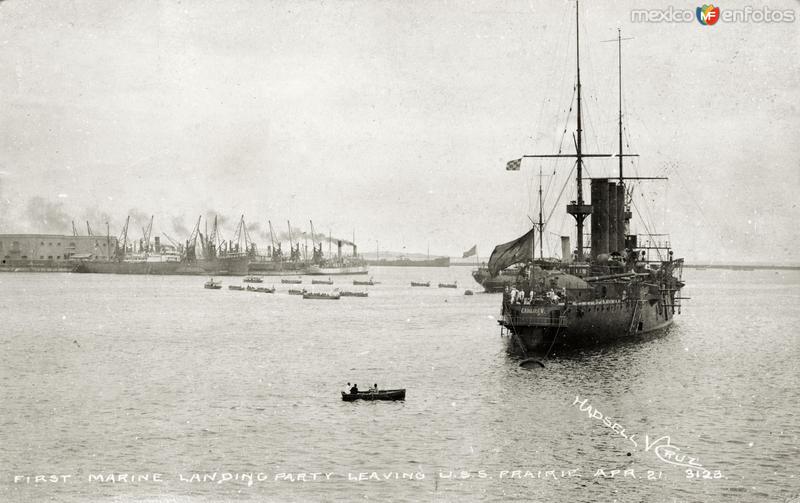
<path id="1" fill-rule="evenodd" d="M 233 278 L 0 275 L 0 501 L 800 496 L 800 273 L 687 270 L 668 333 L 535 371 L 505 352 L 499 297 L 463 295 L 469 273 L 373 268 L 369 298 L 339 301 Z M 407 400 L 345 403 L 347 381 Z M 687 478 L 645 435 L 723 478 Z M 312 472 L 330 477 L 281 475 Z"/>

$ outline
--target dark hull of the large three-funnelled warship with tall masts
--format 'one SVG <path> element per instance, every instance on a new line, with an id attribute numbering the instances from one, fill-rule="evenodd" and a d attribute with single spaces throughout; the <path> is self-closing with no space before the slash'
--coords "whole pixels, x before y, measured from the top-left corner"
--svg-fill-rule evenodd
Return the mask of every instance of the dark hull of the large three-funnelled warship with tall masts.
<path id="1" fill-rule="evenodd" d="M 553 306 L 505 306 L 499 321 L 512 353 L 546 353 L 617 340 L 637 340 L 670 326 L 674 309 L 648 300 L 589 301 Z"/>

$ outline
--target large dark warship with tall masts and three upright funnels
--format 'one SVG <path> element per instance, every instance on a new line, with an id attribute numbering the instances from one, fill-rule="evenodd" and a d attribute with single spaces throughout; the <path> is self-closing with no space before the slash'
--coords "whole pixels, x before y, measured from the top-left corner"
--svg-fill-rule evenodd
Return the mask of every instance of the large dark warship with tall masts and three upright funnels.
<path id="1" fill-rule="evenodd" d="M 536 267 L 533 260 L 534 227 L 523 236 L 495 247 L 488 263 L 494 277 L 500 271 L 523 264 L 517 280 L 504 287 L 498 323 L 513 353 L 544 353 L 554 348 L 584 348 L 612 340 L 636 340 L 664 329 L 680 314 L 683 259 L 674 258 L 669 240 L 649 233 L 639 239 L 630 234 L 631 180 L 623 158 L 636 156 L 622 148 L 622 36 L 619 51 L 619 151 L 617 154 L 585 152 L 581 115 L 579 6 L 576 2 L 576 105 L 575 153 L 524 155 L 507 163 L 520 169 L 523 158 L 575 159 L 577 199 L 567 205 L 575 219 L 577 248 L 572 253 L 569 237 L 562 237 L 561 262 L 551 270 Z M 572 110 L 572 108 L 570 108 Z M 583 163 L 590 158 L 617 157 L 619 175 L 591 178 L 591 200 L 583 197 Z M 658 178 L 661 179 L 661 178 Z M 635 182 L 633 182 L 635 183 Z M 631 184 L 632 185 L 632 184 Z M 584 221 L 590 218 L 591 243 L 584 246 Z M 541 240 L 541 238 L 540 238 Z"/>

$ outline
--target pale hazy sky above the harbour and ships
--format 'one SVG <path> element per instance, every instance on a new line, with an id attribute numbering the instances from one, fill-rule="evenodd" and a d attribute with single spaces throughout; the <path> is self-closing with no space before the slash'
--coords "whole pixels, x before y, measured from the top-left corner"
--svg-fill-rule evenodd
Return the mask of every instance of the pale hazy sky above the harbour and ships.
<path id="1" fill-rule="evenodd" d="M 800 17 L 796 1 L 764 6 Z M 625 148 L 639 154 L 626 174 L 669 178 L 636 184 L 632 229 L 669 233 L 689 261 L 800 263 L 800 20 L 632 20 L 666 7 L 581 4 L 585 150 L 617 150 L 605 41 L 620 28 Z M 545 255 L 558 256 L 559 235 L 575 242 L 571 161 L 505 164 L 574 149 L 574 9 L 4 1 L 0 232 L 74 220 L 84 234 L 89 220 L 119 234 L 131 215 L 138 235 L 154 215 L 156 233 L 185 239 L 216 214 L 231 238 L 245 215 L 263 244 L 268 220 L 313 221 L 362 252 L 486 256 L 538 218 L 541 167 Z M 586 161 L 588 176 L 616 172 Z"/>

